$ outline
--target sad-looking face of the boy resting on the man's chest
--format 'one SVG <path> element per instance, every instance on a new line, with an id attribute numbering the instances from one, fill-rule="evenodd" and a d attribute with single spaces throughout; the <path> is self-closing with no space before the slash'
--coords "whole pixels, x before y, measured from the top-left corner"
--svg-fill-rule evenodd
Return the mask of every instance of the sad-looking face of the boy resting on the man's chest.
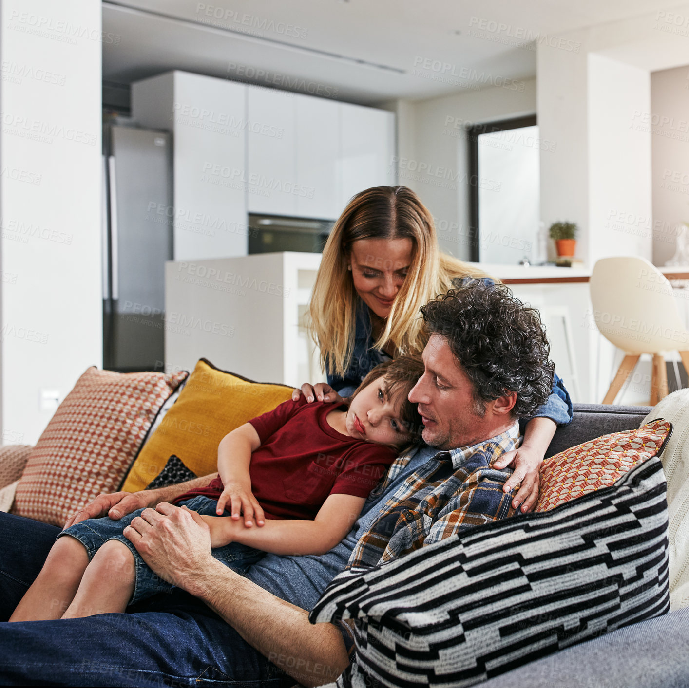
<path id="1" fill-rule="evenodd" d="M 350 437 L 399 448 L 409 444 L 409 434 L 400 420 L 403 395 L 395 402 L 387 393 L 385 378 L 365 386 L 351 400 L 345 423 Z"/>

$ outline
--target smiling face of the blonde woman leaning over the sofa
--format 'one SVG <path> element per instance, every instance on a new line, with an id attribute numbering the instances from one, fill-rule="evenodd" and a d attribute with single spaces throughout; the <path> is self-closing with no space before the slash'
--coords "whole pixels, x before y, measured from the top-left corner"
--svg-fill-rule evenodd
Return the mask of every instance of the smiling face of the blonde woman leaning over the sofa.
<path id="1" fill-rule="evenodd" d="M 359 239 L 351 244 L 349 267 L 354 289 L 373 313 L 390 315 L 411 264 L 411 239 Z"/>

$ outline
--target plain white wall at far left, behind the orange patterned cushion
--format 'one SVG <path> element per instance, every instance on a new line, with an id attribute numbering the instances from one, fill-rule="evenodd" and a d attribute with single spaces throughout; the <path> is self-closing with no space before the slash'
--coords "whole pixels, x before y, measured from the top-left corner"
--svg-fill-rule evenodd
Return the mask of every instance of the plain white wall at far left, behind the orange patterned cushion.
<path id="1" fill-rule="evenodd" d="M 101 6 L 6 0 L 1 10 L 0 364 L 3 441 L 33 444 L 102 363 Z"/>

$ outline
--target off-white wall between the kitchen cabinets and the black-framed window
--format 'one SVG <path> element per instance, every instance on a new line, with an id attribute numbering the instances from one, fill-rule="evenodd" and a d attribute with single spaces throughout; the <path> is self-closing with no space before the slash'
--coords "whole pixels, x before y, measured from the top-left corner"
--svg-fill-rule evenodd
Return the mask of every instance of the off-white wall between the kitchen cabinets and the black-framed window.
<path id="1" fill-rule="evenodd" d="M 508 81 L 506 87 L 416 101 L 413 112 L 408 110 L 397 111 L 402 134 L 398 139 L 399 183 L 416 191 L 433 213 L 442 250 L 469 260 L 469 194 L 477 180 L 469 176 L 465 127 L 533 114 L 535 80 Z"/>

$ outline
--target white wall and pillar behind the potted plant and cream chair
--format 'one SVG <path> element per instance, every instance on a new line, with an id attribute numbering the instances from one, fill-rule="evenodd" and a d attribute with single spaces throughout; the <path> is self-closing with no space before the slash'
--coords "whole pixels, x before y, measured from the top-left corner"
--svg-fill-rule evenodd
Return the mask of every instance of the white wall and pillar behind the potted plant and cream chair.
<path id="1" fill-rule="evenodd" d="M 554 155 L 541 156 L 541 218 L 546 225 L 577 222 L 577 253 L 590 267 L 610 255 L 652 258 L 652 231 L 662 218 L 653 217 L 651 149 L 675 142 L 661 142 L 669 132 L 652 123 L 659 105 L 651 107 L 650 72 L 689 62 L 677 17 L 689 17 L 689 5 L 537 46 L 538 121 L 541 135 L 557 142 Z M 677 113 L 670 129 L 677 118 L 689 120 L 686 102 L 663 103 Z"/>

